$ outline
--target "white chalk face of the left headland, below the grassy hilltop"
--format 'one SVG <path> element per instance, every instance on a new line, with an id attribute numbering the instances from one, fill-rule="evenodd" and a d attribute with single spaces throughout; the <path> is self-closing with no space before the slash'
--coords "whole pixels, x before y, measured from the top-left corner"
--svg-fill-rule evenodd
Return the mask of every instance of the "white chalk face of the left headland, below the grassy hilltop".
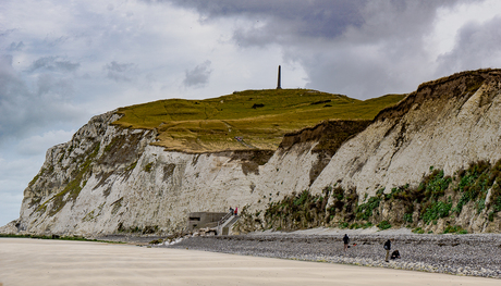
<path id="1" fill-rule="evenodd" d="M 183 229 L 190 212 L 262 209 L 309 186 L 317 154 L 310 145 L 286 153 L 225 151 L 188 154 L 151 146 L 154 130 L 95 116 L 68 144 L 47 151 L 25 189 L 20 229 L 37 234 L 106 235 Z"/>

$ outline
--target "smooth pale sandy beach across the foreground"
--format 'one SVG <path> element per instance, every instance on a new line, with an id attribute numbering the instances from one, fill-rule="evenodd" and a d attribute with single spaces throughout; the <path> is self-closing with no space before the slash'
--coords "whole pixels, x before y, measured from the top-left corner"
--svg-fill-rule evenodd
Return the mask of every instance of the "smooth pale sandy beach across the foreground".
<path id="1" fill-rule="evenodd" d="M 499 285 L 499 279 L 207 251 L 0 238 L 0 285 Z"/>

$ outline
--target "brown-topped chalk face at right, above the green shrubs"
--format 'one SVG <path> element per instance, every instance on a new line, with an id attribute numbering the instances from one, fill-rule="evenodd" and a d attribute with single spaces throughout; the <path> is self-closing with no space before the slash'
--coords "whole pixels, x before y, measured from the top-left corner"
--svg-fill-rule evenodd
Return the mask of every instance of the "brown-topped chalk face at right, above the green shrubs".
<path id="1" fill-rule="evenodd" d="M 501 158 L 501 83 L 487 76 L 476 90 L 459 91 L 468 77 L 423 85 L 346 141 L 315 181 L 320 191 L 337 183 L 359 197 L 418 184 L 431 169 L 445 175 Z M 473 79 L 472 79 L 473 80 Z M 476 78 L 476 80 L 480 80 Z M 456 92 L 456 94 L 454 94 Z"/>

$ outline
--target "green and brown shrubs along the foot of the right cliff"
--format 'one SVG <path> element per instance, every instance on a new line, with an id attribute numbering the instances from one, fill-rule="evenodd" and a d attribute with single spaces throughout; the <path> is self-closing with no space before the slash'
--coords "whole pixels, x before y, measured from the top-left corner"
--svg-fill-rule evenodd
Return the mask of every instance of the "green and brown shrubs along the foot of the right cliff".
<path id="1" fill-rule="evenodd" d="M 430 167 L 417 187 L 404 185 L 361 199 L 355 189 L 328 186 L 322 194 L 307 190 L 272 201 L 264 212 L 244 208 L 241 232 L 255 229 L 296 231 L 319 226 L 380 229 L 392 226 L 414 228 L 415 233 L 473 232 L 472 219 L 484 229 L 499 221 L 501 212 L 501 160 L 472 163 L 454 176 Z M 496 226 L 494 226 L 496 228 Z"/>

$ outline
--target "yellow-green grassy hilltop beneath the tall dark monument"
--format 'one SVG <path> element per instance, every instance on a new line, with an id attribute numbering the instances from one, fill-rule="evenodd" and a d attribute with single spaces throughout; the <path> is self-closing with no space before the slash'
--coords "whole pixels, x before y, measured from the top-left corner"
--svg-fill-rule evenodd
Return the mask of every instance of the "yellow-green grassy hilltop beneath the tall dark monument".
<path id="1" fill-rule="evenodd" d="M 362 101 L 310 89 L 246 90 L 204 100 L 168 99 L 121 108 L 118 112 L 124 116 L 114 124 L 157 128 L 156 145 L 170 150 L 276 150 L 285 133 L 325 120 L 372 120 L 404 96 Z"/>

